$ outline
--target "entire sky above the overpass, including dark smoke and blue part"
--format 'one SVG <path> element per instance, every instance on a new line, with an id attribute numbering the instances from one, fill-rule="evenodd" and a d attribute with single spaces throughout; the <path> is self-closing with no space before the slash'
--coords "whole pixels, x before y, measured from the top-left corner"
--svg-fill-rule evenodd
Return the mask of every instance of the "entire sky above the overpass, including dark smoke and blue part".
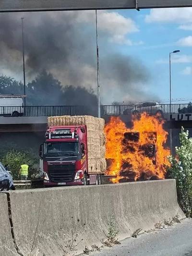
<path id="1" fill-rule="evenodd" d="M 21 17 L 28 82 L 45 68 L 63 85 L 96 91 L 94 11 L 0 13 L 0 70 L 18 80 Z M 192 100 L 192 8 L 98 11 L 98 38 L 103 104 L 168 103 L 169 52 L 178 49 L 171 54 L 172 99 Z"/>

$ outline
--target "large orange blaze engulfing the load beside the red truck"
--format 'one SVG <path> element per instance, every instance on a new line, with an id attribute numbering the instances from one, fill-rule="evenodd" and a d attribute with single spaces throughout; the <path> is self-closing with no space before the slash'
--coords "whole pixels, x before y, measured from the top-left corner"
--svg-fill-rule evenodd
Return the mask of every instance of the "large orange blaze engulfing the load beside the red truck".
<path id="1" fill-rule="evenodd" d="M 170 155 L 164 120 L 143 113 L 132 122 L 127 128 L 119 117 L 112 117 L 105 126 L 107 174 L 117 176 L 113 182 L 164 179 Z"/>

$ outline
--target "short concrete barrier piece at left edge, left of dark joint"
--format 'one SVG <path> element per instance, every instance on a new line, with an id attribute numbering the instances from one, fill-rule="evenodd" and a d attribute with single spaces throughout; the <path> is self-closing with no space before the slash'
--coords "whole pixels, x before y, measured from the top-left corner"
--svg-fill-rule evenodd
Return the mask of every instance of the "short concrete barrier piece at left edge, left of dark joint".
<path id="1" fill-rule="evenodd" d="M 0 193 L 0 256 L 13 255 L 17 254 L 12 240 L 7 195 Z"/>

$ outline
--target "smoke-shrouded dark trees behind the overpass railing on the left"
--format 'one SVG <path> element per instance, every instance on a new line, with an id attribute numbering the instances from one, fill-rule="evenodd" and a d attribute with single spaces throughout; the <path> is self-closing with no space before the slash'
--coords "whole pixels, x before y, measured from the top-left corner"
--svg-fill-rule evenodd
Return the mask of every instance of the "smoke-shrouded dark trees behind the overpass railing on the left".
<path id="1" fill-rule="evenodd" d="M 23 84 L 6 75 L 0 76 L 0 94 L 23 94 Z M 80 86 L 61 85 L 51 73 L 42 71 L 26 86 L 27 105 L 71 105 L 81 106 L 81 111 L 97 115 L 97 97 L 93 89 Z"/>

